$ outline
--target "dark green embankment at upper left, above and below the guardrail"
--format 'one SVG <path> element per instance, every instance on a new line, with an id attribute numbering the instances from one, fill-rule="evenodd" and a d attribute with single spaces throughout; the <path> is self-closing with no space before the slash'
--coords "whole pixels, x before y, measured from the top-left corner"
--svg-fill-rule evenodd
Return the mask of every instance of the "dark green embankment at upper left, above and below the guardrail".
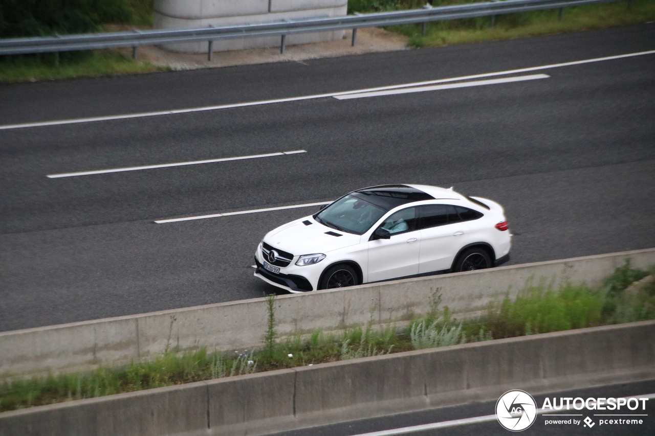
<path id="1" fill-rule="evenodd" d="M 0 5 L 0 38 L 107 31 L 110 24 L 150 26 L 153 0 L 6 0 Z M 116 27 L 116 26 L 113 26 Z M 165 71 L 114 50 L 0 56 L 0 82 L 66 79 Z"/>

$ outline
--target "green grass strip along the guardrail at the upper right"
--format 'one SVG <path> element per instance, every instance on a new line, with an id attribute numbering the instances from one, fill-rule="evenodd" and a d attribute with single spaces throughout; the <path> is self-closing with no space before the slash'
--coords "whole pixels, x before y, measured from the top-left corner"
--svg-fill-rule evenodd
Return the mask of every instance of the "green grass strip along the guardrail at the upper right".
<path id="1" fill-rule="evenodd" d="M 424 37 L 421 35 L 421 24 L 390 26 L 386 29 L 409 37 L 408 45 L 415 48 L 497 41 L 651 22 L 655 20 L 655 1 L 633 0 L 629 10 L 626 1 L 572 7 L 565 9 L 561 21 L 558 15 L 558 10 L 498 15 L 494 27 L 491 27 L 491 17 L 432 22 L 428 24 Z"/>

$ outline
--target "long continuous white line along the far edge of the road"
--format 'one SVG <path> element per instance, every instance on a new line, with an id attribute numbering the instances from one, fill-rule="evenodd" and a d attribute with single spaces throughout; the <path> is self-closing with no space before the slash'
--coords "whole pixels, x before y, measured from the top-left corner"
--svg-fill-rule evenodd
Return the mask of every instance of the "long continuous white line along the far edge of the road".
<path id="1" fill-rule="evenodd" d="M 344 96 L 346 94 L 360 94 L 362 92 L 373 92 L 373 91 L 380 91 L 380 90 L 386 90 L 386 89 L 407 88 L 407 87 L 410 87 L 410 86 L 422 86 L 422 85 L 427 85 L 427 84 L 435 84 L 435 83 L 443 83 L 443 82 L 464 81 L 464 80 L 468 80 L 468 79 L 480 79 L 481 77 L 493 77 L 493 76 L 500 76 L 500 75 L 506 75 L 506 74 L 526 73 L 527 71 L 537 71 L 539 69 L 569 67 L 571 65 L 589 64 L 591 62 L 603 62 L 603 61 L 607 61 L 607 60 L 631 58 L 633 56 L 644 56 L 646 54 L 655 54 L 655 50 L 648 50 L 646 52 L 619 54 L 617 56 L 605 56 L 604 58 L 593 58 L 593 59 L 585 59 L 585 60 L 579 60 L 579 61 L 573 61 L 573 62 L 563 62 L 561 64 L 540 65 L 538 67 L 510 69 L 510 70 L 507 70 L 507 71 L 496 71 L 495 73 L 483 73 L 483 74 L 474 74 L 474 75 L 462 76 L 462 77 L 451 77 L 449 79 L 437 79 L 437 80 L 434 80 L 434 81 L 405 83 L 405 84 L 398 84 L 398 85 L 391 85 L 391 86 L 379 86 L 377 88 L 367 88 L 367 89 L 344 91 L 344 92 L 332 92 L 330 94 L 316 94 L 316 95 L 313 95 L 313 96 L 280 98 L 280 99 L 277 99 L 277 100 L 250 101 L 248 103 L 234 103 L 234 104 L 230 104 L 230 105 L 194 107 L 194 108 L 191 108 L 191 109 L 176 109 L 176 110 L 173 110 L 173 111 L 132 113 L 132 114 L 126 114 L 126 115 L 111 115 L 111 116 L 108 116 L 108 117 L 77 118 L 77 119 L 73 119 L 73 120 L 56 120 L 56 121 L 43 121 L 43 122 L 26 122 L 26 123 L 22 123 L 22 124 L 7 124 L 5 126 L 0 126 L 0 130 L 20 129 L 20 128 L 27 128 L 27 127 L 56 126 L 56 125 L 59 125 L 59 124 L 75 124 L 75 123 L 78 123 L 78 122 L 93 122 L 93 121 L 106 121 L 106 120 L 122 120 L 122 119 L 126 119 L 126 118 L 155 117 L 157 115 L 172 115 L 172 114 L 177 114 L 177 113 L 189 113 L 189 112 L 199 112 L 199 111 L 214 111 L 216 109 L 229 109 L 231 107 L 267 105 L 267 104 L 271 104 L 271 103 L 283 103 L 285 101 L 310 100 L 312 98 Z"/>

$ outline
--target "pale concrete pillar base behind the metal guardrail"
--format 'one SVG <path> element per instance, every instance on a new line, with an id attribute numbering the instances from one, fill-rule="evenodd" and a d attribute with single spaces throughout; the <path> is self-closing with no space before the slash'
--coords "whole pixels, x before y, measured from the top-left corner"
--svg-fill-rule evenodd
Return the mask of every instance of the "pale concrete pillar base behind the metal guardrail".
<path id="1" fill-rule="evenodd" d="M 155 0 L 155 29 L 189 29 L 239 24 L 262 24 L 299 18 L 345 16 L 347 0 Z M 343 30 L 294 34 L 286 37 L 286 45 L 320 43 L 341 39 Z M 280 37 L 226 39 L 214 41 L 213 51 L 280 45 Z M 165 45 L 178 52 L 207 52 L 208 43 Z"/>

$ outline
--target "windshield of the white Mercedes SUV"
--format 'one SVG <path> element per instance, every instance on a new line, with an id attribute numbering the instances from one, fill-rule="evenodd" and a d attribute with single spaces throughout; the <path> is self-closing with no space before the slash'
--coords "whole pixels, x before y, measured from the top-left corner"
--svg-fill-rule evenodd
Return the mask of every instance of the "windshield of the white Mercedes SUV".
<path id="1" fill-rule="evenodd" d="M 327 227 L 342 232 L 364 234 L 377 223 L 386 210 L 369 203 L 363 198 L 348 194 L 327 206 L 314 217 Z"/>

